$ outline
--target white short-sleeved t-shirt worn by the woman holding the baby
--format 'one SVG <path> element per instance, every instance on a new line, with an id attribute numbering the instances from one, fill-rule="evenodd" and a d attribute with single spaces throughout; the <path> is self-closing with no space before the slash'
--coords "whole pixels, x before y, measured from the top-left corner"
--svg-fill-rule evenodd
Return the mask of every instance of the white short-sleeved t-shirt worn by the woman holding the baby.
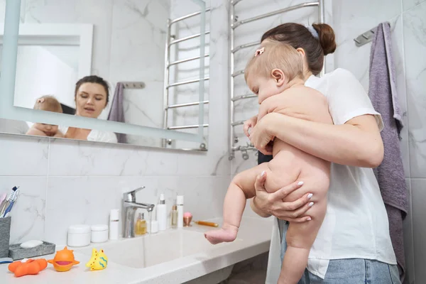
<path id="1" fill-rule="evenodd" d="M 334 124 L 345 124 L 356 116 L 372 114 L 379 128 L 383 129 L 381 115 L 373 109 L 364 88 L 351 72 L 339 68 L 322 77 L 312 75 L 305 86 L 317 89 L 327 97 Z M 310 250 L 308 271 L 324 278 L 329 260 L 340 258 L 365 258 L 396 264 L 388 215 L 371 168 L 332 163 L 327 196 L 327 214 Z M 277 231 L 274 229 L 275 233 Z M 276 234 L 273 235 L 270 253 L 276 251 L 277 240 Z M 270 256 L 270 259 L 277 258 Z M 276 275 L 275 266 L 270 268 L 268 274 Z"/>

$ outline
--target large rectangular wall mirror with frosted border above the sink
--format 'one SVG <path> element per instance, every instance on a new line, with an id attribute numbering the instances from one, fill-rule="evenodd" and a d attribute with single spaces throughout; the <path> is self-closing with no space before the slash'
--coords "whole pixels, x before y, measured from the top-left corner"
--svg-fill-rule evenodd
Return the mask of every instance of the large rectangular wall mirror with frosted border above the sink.
<path id="1" fill-rule="evenodd" d="M 0 132 L 207 150 L 209 9 L 179 4 L 0 1 Z"/>

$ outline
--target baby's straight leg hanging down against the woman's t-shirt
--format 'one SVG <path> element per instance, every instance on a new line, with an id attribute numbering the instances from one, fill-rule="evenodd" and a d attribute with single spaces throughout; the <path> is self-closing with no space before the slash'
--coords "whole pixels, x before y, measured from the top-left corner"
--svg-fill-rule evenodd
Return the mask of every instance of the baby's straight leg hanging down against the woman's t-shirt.
<path id="1" fill-rule="evenodd" d="M 309 210 L 312 220 L 304 223 L 290 223 L 287 235 L 287 250 L 284 254 L 278 284 L 296 284 L 302 278 L 307 266 L 310 248 L 317 238 L 327 209 L 327 198 L 315 202 Z"/>

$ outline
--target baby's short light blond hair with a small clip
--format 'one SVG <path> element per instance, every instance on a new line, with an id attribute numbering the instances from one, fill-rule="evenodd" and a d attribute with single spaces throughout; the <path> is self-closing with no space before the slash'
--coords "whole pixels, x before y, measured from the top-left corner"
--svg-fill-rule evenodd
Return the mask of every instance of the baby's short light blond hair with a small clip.
<path id="1" fill-rule="evenodd" d="M 302 77 L 302 56 L 291 45 L 277 40 L 266 40 L 247 63 L 244 77 L 246 81 L 251 73 L 268 77 L 274 69 L 282 70 L 287 82 Z"/>

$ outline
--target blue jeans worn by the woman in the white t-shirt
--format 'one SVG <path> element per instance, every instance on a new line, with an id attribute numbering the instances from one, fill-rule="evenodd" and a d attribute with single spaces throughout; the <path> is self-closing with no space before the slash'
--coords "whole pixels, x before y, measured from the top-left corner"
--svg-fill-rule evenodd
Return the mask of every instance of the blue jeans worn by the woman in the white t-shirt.
<path id="1" fill-rule="evenodd" d="M 283 229 L 281 261 L 287 249 L 285 234 L 288 223 L 280 222 Z M 305 269 L 299 284 L 400 284 L 398 266 L 361 258 L 332 259 L 322 279 Z"/>

